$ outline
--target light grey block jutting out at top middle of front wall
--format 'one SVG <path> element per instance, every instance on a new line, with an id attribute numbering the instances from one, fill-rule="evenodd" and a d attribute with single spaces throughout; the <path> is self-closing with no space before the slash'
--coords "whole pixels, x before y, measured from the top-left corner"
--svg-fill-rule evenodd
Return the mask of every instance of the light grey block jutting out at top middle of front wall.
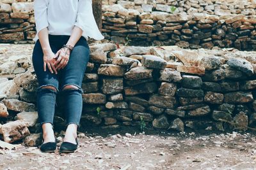
<path id="1" fill-rule="evenodd" d="M 141 64 L 145 67 L 154 68 L 154 69 L 163 69 L 166 67 L 166 60 L 161 59 L 155 55 L 143 55 Z"/>

